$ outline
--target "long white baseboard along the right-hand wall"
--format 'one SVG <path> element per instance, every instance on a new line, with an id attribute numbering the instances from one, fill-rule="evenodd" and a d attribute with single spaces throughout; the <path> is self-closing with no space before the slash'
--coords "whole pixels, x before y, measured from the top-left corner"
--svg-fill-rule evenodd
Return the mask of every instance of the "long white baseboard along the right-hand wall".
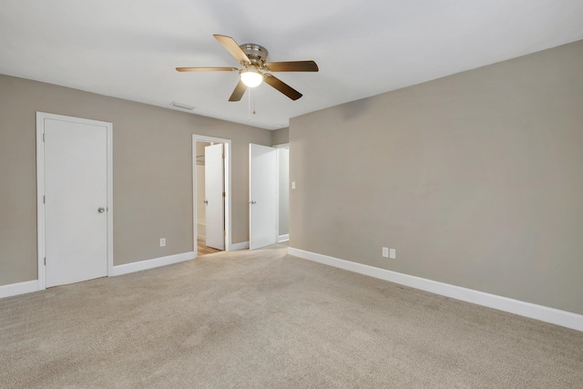
<path id="1" fill-rule="evenodd" d="M 573 312 L 561 311 L 555 308 L 549 308 L 544 305 L 537 305 L 530 302 L 521 302 L 519 300 L 509 299 L 486 292 L 479 292 L 473 289 L 463 288 L 461 286 L 451 285 L 444 282 L 436 282 L 421 277 L 388 271 L 385 269 L 375 268 L 353 261 L 345 261 L 327 255 L 318 254 L 311 251 L 303 251 L 290 247 L 288 253 L 295 257 L 308 261 L 323 263 L 334 266 L 346 271 L 353 271 L 359 274 L 378 278 L 384 281 L 399 283 L 410 286 L 425 292 L 441 294 L 451 297 L 452 299 L 464 302 L 473 302 L 488 308 L 494 308 L 499 311 L 515 313 L 526 316 L 531 319 L 537 319 L 542 322 L 550 322 L 563 327 L 572 328 L 573 330 L 583 331 L 583 315 Z"/>

